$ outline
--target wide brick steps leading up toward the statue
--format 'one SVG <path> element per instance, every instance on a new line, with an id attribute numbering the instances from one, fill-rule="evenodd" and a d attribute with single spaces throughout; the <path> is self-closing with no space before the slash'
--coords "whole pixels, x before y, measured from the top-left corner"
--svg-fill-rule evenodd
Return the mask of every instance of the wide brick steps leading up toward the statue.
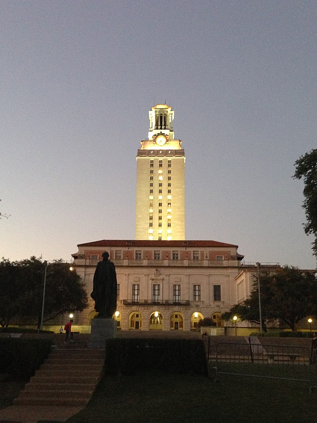
<path id="1" fill-rule="evenodd" d="M 14 405 L 86 406 L 101 379 L 104 363 L 105 350 L 55 350 Z"/>

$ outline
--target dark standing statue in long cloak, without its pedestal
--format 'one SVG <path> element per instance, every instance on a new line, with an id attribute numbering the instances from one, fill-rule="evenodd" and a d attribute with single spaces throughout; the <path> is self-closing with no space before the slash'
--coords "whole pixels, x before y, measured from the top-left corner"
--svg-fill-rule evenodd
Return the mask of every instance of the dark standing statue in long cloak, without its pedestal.
<path id="1" fill-rule="evenodd" d="M 111 318 L 117 306 L 117 277 L 107 251 L 103 252 L 103 260 L 97 263 L 90 296 L 95 300 L 97 318 Z"/>

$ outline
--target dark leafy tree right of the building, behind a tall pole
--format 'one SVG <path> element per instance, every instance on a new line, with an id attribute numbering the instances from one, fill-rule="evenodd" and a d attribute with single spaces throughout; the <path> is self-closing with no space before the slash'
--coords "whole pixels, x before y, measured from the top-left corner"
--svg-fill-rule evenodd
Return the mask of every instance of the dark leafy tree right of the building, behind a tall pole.
<path id="1" fill-rule="evenodd" d="M 254 281 L 250 299 L 224 313 L 224 320 L 236 314 L 241 320 L 259 323 L 257 278 Z M 261 273 L 260 286 L 264 331 L 265 320 L 279 319 L 295 331 L 301 319 L 309 315 L 317 316 L 317 279 L 312 272 L 284 266 L 273 275 Z"/>

